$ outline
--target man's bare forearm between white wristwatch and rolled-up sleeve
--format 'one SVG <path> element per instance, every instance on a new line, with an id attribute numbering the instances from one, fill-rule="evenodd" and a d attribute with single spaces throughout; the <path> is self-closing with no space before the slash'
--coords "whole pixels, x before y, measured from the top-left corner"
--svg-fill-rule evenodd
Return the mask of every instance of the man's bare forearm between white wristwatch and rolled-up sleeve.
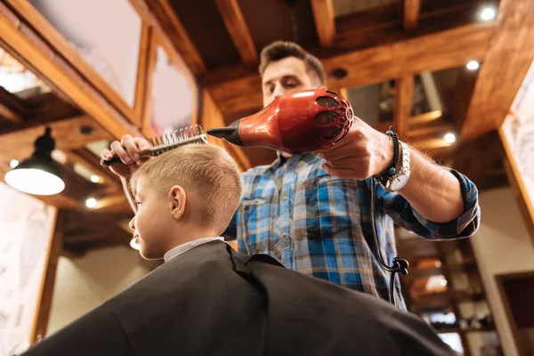
<path id="1" fill-rule="evenodd" d="M 449 223 L 465 210 L 457 177 L 417 150 L 410 150 L 409 181 L 399 193 L 417 213 L 434 223 Z"/>

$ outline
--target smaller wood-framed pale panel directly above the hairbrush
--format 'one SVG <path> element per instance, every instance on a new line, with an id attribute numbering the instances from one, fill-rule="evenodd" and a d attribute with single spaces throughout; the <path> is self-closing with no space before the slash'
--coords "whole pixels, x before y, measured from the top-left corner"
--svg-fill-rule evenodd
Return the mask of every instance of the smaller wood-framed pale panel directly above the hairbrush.
<path id="1" fill-rule="evenodd" d="M 198 122 L 198 85 L 180 55 L 154 31 L 148 60 L 143 133 L 163 134 Z"/>

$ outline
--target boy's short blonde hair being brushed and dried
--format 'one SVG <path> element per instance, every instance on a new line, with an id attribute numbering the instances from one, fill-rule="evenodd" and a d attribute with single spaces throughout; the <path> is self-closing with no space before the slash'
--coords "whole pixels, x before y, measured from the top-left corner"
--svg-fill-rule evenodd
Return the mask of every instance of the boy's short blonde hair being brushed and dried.
<path id="1" fill-rule="evenodd" d="M 174 185 L 198 198 L 202 222 L 226 229 L 241 201 L 242 182 L 238 168 L 225 150 L 213 144 L 189 144 L 152 158 L 132 175 L 130 189 L 137 181 L 165 196 Z"/>

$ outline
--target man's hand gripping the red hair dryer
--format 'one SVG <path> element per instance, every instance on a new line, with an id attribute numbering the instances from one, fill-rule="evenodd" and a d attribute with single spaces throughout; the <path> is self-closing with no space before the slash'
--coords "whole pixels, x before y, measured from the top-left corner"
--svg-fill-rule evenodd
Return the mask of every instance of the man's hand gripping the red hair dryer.
<path id="1" fill-rule="evenodd" d="M 354 117 L 351 129 L 341 141 L 314 153 L 326 160 L 323 169 L 328 174 L 363 181 L 391 165 L 393 142 L 386 134 Z"/>

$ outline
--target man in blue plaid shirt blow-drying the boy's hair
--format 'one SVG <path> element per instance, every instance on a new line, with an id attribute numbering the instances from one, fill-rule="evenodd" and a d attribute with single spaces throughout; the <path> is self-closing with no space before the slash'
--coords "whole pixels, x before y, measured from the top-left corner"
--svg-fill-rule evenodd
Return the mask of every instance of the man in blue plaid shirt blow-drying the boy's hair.
<path id="1" fill-rule="evenodd" d="M 259 71 L 263 106 L 326 84 L 320 61 L 291 42 L 265 47 Z M 333 148 L 302 155 L 277 152 L 270 166 L 248 169 L 226 237 L 238 239 L 240 254 L 268 254 L 289 269 L 387 300 L 390 276 L 373 239 L 370 177 L 384 177 L 376 189 L 375 219 L 385 263 L 391 264 L 396 252 L 393 223 L 431 240 L 472 236 L 480 223 L 473 182 L 406 143 L 398 142 L 399 163 L 388 175 L 397 143 L 388 134 L 355 118 Z M 124 162 L 110 169 L 121 177 L 131 202 L 127 182 L 142 165 L 139 150 L 145 147 L 146 140 L 125 135 L 101 152 L 102 158 L 117 155 Z M 394 289 L 405 308 L 398 281 Z"/>

